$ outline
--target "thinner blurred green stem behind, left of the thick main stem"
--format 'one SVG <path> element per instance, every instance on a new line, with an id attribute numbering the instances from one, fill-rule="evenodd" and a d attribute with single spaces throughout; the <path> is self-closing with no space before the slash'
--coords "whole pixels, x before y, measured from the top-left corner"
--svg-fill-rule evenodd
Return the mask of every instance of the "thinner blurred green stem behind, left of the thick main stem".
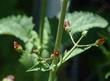
<path id="1" fill-rule="evenodd" d="M 47 8 L 46 6 L 47 6 L 47 0 L 42 0 L 40 28 L 39 28 L 39 37 L 40 37 L 40 44 L 41 44 L 40 54 L 42 52 L 44 22 L 45 22 L 46 8 Z"/>

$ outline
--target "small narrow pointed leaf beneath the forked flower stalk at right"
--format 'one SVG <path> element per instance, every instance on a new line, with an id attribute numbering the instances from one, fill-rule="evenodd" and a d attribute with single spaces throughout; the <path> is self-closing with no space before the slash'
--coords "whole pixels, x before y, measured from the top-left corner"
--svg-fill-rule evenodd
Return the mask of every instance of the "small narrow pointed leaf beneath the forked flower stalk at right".
<path id="1" fill-rule="evenodd" d="M 70 58 L 75 57 L 75 56 L 78 55 L 78 54 L 81 54 L 82 52 L 88 50 L 89 48 L 91 48 L 91 46 L 90 46 L 90 47 L 86 47 L 86 48 L 75 48 L 75 49 L 71 52 L 71 54 L 70 54 L 70 51 L 65 52 L 65 55 L 64 55 L 64 57 L 63 57 L 63 62 L 66 62 L 66 61 L 69 60 Z"/>

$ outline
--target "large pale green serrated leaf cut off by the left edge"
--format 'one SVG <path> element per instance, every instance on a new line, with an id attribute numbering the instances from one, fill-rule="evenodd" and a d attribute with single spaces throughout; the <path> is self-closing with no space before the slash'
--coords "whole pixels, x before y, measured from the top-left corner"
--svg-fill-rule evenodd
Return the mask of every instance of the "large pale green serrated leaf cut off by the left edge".
<path id="1" fill-rule="evenodd" d="M 33 29 L 32 17 L 9 16 L 0 20 L 0 34 L 13 35 L 26 42 L 29 33 Z"/>

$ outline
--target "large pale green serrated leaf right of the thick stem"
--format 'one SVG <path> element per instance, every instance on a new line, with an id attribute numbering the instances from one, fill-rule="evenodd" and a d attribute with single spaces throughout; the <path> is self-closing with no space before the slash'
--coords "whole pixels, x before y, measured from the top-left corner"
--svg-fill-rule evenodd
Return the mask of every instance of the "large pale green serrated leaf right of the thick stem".
<path id="1" fill-rule="evenodd" d="M 108 25 L 108 22 L 104 18 L 90 12 L 69 13 L 66 15 L 66 19 L 70 22 L 72 34 L 93 27 L 105 28 Z"/>

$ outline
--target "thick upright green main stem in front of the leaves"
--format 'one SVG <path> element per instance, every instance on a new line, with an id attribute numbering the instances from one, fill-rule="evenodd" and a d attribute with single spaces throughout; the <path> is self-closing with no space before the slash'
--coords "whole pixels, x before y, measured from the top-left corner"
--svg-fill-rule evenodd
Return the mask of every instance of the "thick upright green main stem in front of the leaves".
<path id="1" fill-rule="evenodd" d="M 64 25 L 64 19 L 65 19 L 65 14 L 66 14 L 66 9 L 67 9 L 67 3 L 68 3 L 68 0 L 63 0 L 62 9 L 61 9 L 61 16 L 60 16 L 60 20 L 59 20 L 55 48 L 54 48 L 55 51 L 56 50 L 60 51 L 61 40 L 62 40 L 62 35 L 63 35 L 63 25 Z M 58 59 L 54 58 L 52 61 L 52 65 L 57 65 L 57 63 L 58 63 Z M 57 71 L 57 66 L 55 66 L 50 71 L 48 81 L 55 81 L 56 80 L 56 71 Z"/>

